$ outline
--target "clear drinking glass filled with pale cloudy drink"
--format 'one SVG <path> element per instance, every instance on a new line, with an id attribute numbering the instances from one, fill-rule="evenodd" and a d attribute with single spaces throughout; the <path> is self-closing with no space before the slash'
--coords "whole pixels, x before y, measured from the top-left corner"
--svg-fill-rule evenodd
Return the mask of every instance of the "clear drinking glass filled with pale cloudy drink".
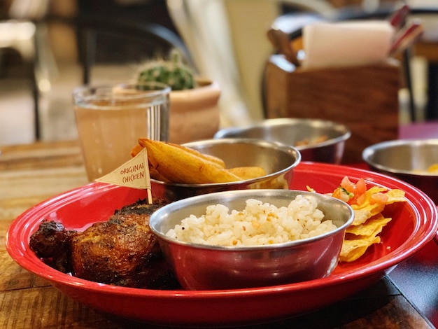
<path id="1" fill-rule="evenodd" d="M 125 87 L 82 87 L 73 93 L 89 181 L 131 159 L 140 137 L 166 141 L 169 136 L 169 88 L 132 92 Z"/>

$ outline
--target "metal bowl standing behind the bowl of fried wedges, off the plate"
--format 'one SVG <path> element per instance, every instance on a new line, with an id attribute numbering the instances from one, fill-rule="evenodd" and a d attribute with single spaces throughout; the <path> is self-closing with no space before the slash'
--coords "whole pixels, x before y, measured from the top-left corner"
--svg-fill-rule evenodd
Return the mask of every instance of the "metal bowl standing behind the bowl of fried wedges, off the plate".
<path id="1" fill-rule="evenodd" d="M 351 132 L 345 125 L 327 120 L 278 118 L 248 127 L 219 130 L 214 138 L 253 138 L 295 146 L 303 161 L 339 164 Z M 325 137 L 323 141 L 318 141 Z M 306 145 L 299 145 L 302 143 Z"/>

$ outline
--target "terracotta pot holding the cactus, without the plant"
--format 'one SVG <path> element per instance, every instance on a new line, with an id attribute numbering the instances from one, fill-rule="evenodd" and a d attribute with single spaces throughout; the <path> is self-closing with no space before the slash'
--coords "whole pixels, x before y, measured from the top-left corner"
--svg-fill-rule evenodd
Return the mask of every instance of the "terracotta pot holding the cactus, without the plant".
<path id="1" fill-rule="evenodd" d="M 219 129 L 220 87 L 198 81 L 200 87 L 170 93 L 169 141 L 176 144 L 210 139 Z"/>

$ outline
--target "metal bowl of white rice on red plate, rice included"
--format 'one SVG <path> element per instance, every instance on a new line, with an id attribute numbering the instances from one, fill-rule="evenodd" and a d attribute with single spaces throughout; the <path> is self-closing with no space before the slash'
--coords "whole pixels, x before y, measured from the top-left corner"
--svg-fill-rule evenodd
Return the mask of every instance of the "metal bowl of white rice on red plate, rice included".
<path id="1" fill-rule="evenodd" d="M 172 202 L 149 225 L 183 288 L 217 290 L 330 275 L 353 217 L 329 195 L 233 190 Z"/>

